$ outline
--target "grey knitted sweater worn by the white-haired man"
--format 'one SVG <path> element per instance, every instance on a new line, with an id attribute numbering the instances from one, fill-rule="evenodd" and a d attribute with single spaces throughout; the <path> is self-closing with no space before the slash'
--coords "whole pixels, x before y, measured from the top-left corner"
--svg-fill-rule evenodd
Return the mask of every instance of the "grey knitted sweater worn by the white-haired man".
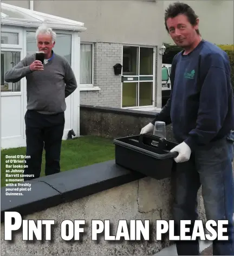
<path id="1" fill-rule="evenodd" d="M 27 79 L 27 109 L 43 114 L 61 113 L 66 110 L 65 98 L 77 88 L 75 75 L 68 61 L 53 52 L 43 71 L 31 71 L 35 54 L 26 56 L 5 73 L 6 82 Z"/>

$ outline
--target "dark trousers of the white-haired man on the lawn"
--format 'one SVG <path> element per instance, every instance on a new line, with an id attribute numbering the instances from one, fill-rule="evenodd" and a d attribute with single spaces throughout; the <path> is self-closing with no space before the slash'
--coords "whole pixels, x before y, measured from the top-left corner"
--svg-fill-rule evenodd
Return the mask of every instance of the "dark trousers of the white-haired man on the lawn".
<path id="1" fill-rule="evenodd" d="M 27 158 L 24 181 L 40 177 L 42 152 L 46 151 L 45 174 L 60 172 L 60 153 L 65 124 L 64 112 L 41 114 L 27 110 L 25 114 Z M 31 177 L 30 177 L 31 175 Z M 28 176 L 28 177 L 27 177 Z"/>

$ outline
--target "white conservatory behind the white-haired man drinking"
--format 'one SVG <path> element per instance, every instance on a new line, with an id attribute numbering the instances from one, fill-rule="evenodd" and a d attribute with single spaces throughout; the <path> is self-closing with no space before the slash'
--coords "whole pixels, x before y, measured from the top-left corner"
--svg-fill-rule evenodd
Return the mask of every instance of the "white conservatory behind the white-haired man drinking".
<path id="1" fill-rule="evenodd" d="M 1 3 L 1 148 L 26 146 L 24 115 L 27 111 L 26 79 L 4 81 L 4 74 L 26 55 L 37 51 L 35 31 L 47 23 L 57 34 L 54 52 L 66 57 L 78 88 L 66 98 L 63 139 L 69 130 L 80 136 L 80 37 L 82 22 Z M 48 95 L 49 97 L 49 95 Z"/>

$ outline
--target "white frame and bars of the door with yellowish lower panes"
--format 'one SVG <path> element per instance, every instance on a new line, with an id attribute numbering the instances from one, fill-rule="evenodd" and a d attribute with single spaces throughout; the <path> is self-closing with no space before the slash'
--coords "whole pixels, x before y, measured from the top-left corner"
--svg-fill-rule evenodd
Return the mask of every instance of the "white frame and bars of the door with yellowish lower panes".
<path id="1" fill-rule="evenodd" d="M 121 65 L 123 65 L 123 58 L 124 58 L 124 46 L 133 46 L 133 47 L 138 47 L 138 75 L 124 75 L 126 78 L 140 78 L 144 76 L 153 76 L 153 80 L 138 80 L 138 81 L 124 81 L 124 82 L 138 82 L 138 89 L 137 89 L 137 97 L 138 97 L 138 105 L 139 105 L 139 82 L 151 82 L 152 81 L 152 105 L 148 106 L 134 106 L 134 107 L 122 107 L 122 87 L 123 87 L 123 82 L 121 82 L 121 105 L 120 107 L 122 109 L 135 109 L 135 108 L 149 108 L 149 107 L 154 107 L 155 105 L 155 46 L 145 46 L 145 45 L 140 45 L 140 44 L 123 44 L 122 45 L 122 61 Z M 140 48 L 153 48 L 153 74 L 152 75 L 139 75 L 140 73 Z M 123 71 L 122 71 L 123 72 Z M 121 72 L 121 76 L 123 76 Z"/>

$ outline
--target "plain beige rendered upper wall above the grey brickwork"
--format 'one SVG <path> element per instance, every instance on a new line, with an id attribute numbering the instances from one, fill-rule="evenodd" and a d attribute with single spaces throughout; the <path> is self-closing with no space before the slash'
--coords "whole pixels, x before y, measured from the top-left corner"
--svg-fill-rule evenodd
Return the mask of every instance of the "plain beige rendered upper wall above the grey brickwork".
<path id="1" fill-rule="evenodd" d="M 84 22 L 81 41 L 153 46 L 161 43 L 161 8 L 163 1 L 34 1 L 36 11 Z"/>

